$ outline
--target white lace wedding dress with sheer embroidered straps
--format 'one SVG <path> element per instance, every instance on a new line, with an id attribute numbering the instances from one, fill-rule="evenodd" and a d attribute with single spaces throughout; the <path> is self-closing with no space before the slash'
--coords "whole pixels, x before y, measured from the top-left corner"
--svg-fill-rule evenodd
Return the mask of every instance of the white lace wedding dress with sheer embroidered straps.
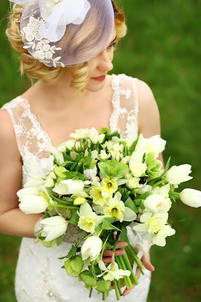
<path id="1" fill-rule="evenodd" d="M 138 95 L 137 79 L 125 74 L 113 74 L 112 88 L 114 111 L 110 118 L 112 131 L 118 129 L 123 137 L 137 137 L 138 126 Z M 23 161 L 23 181 L 27 180 L 28 173 L 37 171 L 39 160 L 50 155 L 54 148 L 48 134 L 41 129 L 37 117 L 30 111 L 27 100 L 21 96 L 5 104 L 1 110 L 7 110 L 13 121 L 19 151 Z M 26 225 L 25 225 L 26 228 Z M 129 237 L 132 243 L 135 236 L 129 227 Z M 68 231 L 70 232 L 70 231 Z M 66 274 L 61 268 L 64 260 L 58 257 L 67 254 L 74 235 L 67 234 L 68 242 L 62 242 L 60 246 L 45 248 L 34 243 L 32 238 L 23 238 L 16 268 L 15 291 L 18 302 L 97 302 L 102 300 L 102 295 L 92 291 L 91 298 L 84 283 L 77 278 Z M 149 246 L 143 241 L 144 250 L 149 253 Z M 145 302 L 149 291 L 151 272 L 144 271 L 140 283 L 135 286 L 130 294 L 121 297 L 122 301 Z M 107 299 L 108 302 L 116 301 L 115 291 L 112 290 Z"/>

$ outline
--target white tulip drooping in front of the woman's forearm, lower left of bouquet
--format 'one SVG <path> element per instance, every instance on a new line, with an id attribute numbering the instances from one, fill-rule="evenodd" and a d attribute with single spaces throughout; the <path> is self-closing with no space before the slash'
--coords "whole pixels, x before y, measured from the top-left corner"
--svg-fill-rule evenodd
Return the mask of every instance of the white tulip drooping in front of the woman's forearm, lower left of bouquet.
<path id="1" fill-rule="evenodd" d="M 66 232 L 68 226 L 68 221 L 61 216 L 45 218 L 40 223 L 44 224 L 41 236 L 46 237 L 45 241 L 52 241 L 60 237 Z"/>

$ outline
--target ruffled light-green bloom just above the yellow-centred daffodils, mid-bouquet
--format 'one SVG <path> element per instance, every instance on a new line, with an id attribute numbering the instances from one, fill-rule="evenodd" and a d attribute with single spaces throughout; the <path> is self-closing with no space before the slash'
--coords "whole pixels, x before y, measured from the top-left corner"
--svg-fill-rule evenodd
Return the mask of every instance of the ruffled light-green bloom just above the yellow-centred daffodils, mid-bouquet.
<path id="1" fill-rule="evenodd" d="M 128 170 L 128 165 L 118 162 L 115 159 L 99 162 L 97 165 L 100 172 L 111 178 L 122 177 Z"/>

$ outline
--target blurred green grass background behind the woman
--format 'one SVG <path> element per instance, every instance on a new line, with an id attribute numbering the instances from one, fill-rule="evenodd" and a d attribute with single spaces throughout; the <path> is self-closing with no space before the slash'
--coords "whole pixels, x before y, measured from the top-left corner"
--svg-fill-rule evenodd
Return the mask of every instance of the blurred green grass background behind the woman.
<path id="1" fill-rule="evenodd" d="M 200 190 L 200 21 L 201 2 L 196 0 L 127 0 L 123 7 L 128 35 L 120 42 L 111 73 L 126 73 L 145 81 L 152 89 L 161 114 L 164 152 L 171 165 L 192 165 L 193 179 L 180 186 Z M 0 18 L 9 10 L 2 0 Z M 0 107 L 29 87 L 20 78 L 18 59 L 5 37 L 7 20 L 1 23 Z M 9 202 L 9 201 L 8 201 Z M 200 208 L 179 202 L 172 206 L 176 235 L 164 248 L 153 246 L 155 266 L 148 302 L 201 301 Z M 185 221 L 175 220 L 186 218 Z M 15 302 L 14 273 L 20 238 L 0 235 L 0 300 Z M 29 302 L 29 301 L 27 301 Z M 138 301 L 136 301 L 138 302 Z"/>

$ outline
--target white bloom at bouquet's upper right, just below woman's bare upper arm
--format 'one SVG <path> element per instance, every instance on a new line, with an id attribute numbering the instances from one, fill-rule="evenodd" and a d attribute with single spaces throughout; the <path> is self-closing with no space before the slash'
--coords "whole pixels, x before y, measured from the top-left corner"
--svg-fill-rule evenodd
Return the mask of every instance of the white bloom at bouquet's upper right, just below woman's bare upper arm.
<path id="1" fill-rule="evenodd" d="M 144 138 L 142 134 L 138 139 L 135 150 L 143 150 L 146 154 L 154 153 L 155 158 L 165 149 L 166 141 L 160 135 L 154 135 L 149 138 Z"/>

